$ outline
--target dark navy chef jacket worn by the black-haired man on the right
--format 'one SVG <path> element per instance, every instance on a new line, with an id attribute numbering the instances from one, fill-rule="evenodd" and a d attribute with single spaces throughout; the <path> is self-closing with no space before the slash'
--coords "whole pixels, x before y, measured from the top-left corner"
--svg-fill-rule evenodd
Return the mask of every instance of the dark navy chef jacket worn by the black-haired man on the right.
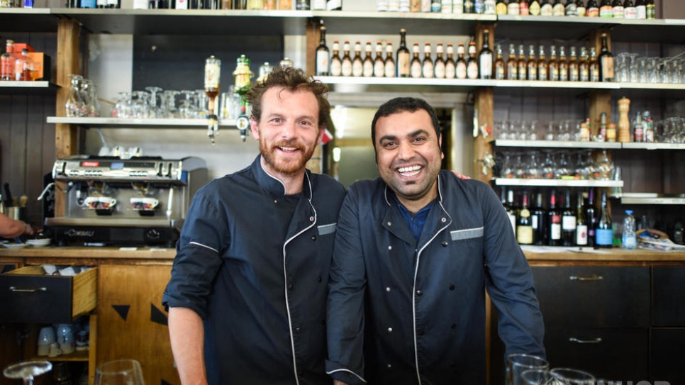
<path id="1" fill-rule="evenodd" d="M 342 203 L 326 372 L 347 384 L 485 384 L 486 289 L 506 354 L 544 357 L 533 276 L 491 187 L 441 171 L 418 242 L 393 194 L 377 178 Z"/>

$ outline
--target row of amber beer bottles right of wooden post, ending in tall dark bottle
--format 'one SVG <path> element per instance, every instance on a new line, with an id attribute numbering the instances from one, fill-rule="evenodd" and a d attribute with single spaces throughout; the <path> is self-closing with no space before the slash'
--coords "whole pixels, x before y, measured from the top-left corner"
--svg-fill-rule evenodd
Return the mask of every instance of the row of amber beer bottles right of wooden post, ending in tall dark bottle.
<path id="1" fill-rule="evenodd" d="M 525 46 L 509 44 L 508 56 L 503 57 L 501 45 L 496 46 L 496 57 L 493 63 L 495 79 L 509 80 L 548 80 L 559 82 L 613 82 L 613 54 L 608 50 L 607 36 L 601 35 L 601 51 L 597 55 L 594 47 L 589 50 L 581 47 L 569 47 L 569 55 L 566 55 L 566 47 L 550 45 L 545 50 L 544 45 L 538 46 L 538 55 L 535 55 L 535 45 L 528 45 L 528 56 L 525 55 Z M 549 59 L 547 59 L 549 52 Z M 580 55 L 578 55 L 580 54 Z"/>

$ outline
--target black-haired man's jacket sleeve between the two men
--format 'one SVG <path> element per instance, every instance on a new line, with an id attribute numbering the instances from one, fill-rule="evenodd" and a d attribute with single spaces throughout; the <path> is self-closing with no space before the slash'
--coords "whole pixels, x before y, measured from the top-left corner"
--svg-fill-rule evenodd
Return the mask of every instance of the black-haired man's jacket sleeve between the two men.
<path id="1" fill-rule="evenodd" d="M 359 203 L 352 187 L 342 203 L 330 269 L 326 372 L 346 384 L 364 384 L 364 288 L 366 273 Z"/>

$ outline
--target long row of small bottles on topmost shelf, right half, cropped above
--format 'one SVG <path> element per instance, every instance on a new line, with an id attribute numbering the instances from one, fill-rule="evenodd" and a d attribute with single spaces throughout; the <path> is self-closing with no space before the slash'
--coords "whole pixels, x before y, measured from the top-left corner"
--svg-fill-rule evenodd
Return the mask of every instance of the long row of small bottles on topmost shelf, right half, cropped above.
<path id="1" fill-rule="evenodd" d="M 377 11 L 655 18 L 654 0 L 377 0 Z"/>

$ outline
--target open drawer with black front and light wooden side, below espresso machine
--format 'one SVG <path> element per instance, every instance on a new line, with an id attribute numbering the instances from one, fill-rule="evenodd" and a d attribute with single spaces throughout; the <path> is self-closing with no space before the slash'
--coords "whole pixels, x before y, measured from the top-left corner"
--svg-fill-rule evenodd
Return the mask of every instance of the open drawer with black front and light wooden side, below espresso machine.
<path id="1" fill-rule="evenodd" d="M 97 269 L 62 277 L 36 265 L 0 274 L 0 303 L 0 322 L 71 322 L 96 306 Z"/>

